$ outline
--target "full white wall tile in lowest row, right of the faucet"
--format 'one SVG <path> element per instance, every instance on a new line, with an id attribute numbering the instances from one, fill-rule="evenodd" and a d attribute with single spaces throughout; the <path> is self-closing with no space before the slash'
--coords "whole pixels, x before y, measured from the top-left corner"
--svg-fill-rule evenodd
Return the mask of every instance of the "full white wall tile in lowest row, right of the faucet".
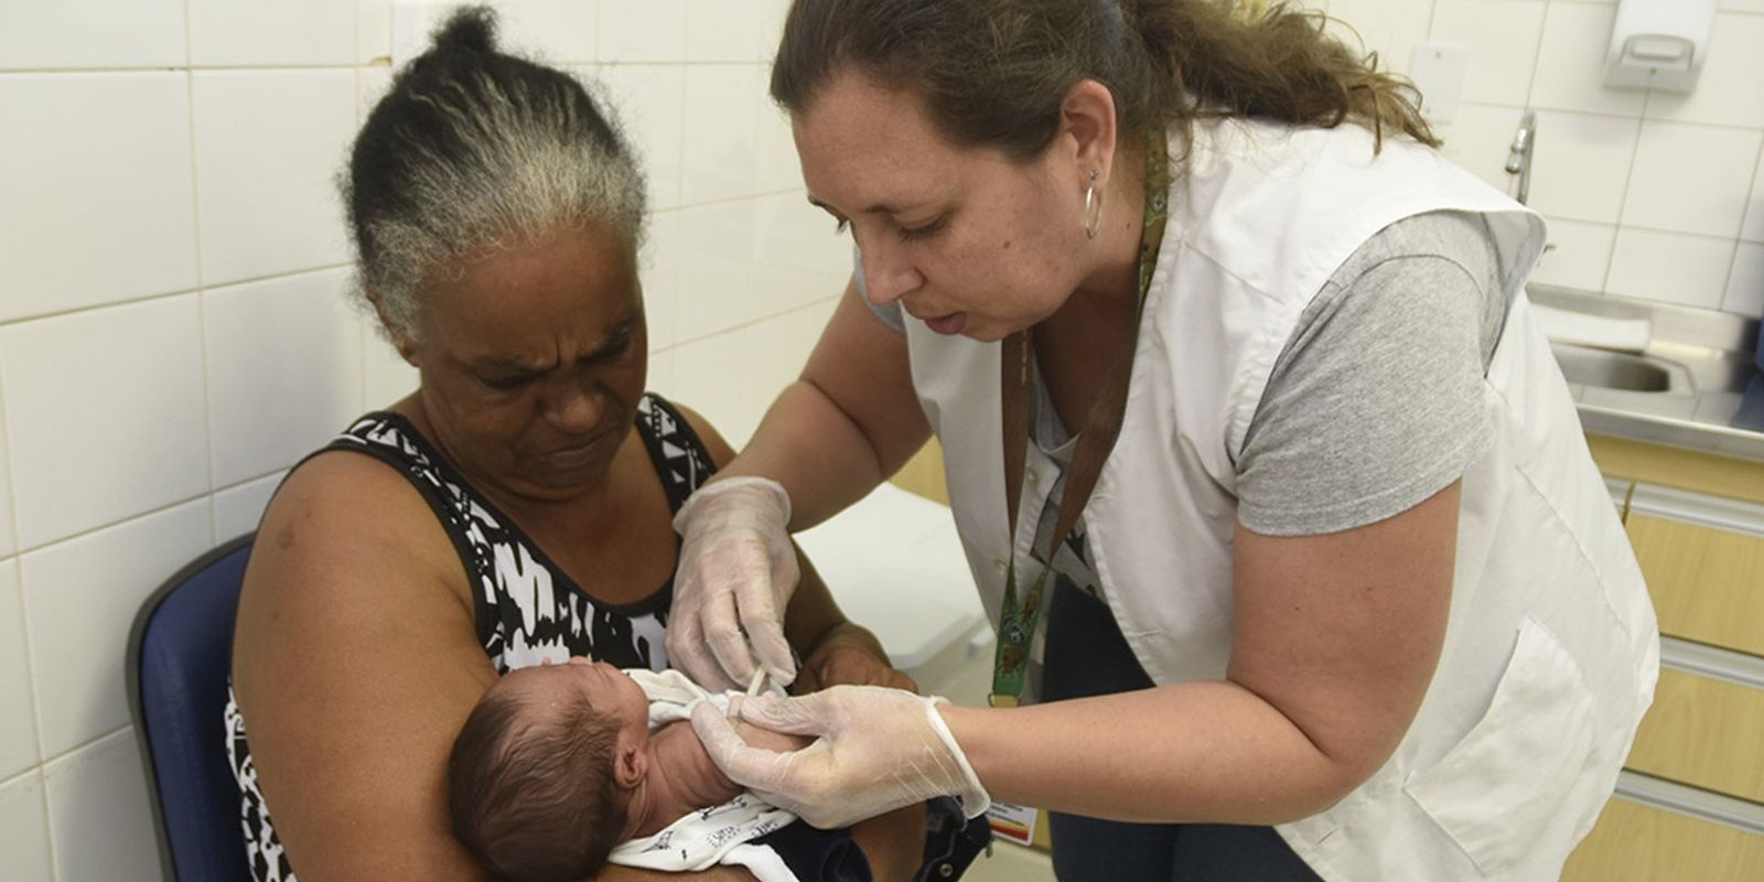
<path id="1" fill-rule="evenodd" d="M 1722 309 L 1734 240 L 1623 228 L 1605 289 L 1612 295 Z"/>

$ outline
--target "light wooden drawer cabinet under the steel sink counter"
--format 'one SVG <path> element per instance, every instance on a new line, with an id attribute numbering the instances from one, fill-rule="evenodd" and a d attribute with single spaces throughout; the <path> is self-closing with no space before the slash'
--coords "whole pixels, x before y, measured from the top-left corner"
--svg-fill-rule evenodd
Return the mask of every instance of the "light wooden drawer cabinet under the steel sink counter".
<path id="1" fill-rule="evenodd" d="M 1655 704 L 1565 880 L 1764 880 L 1764 464 L 1589 437 L 1660 617 Z"/>

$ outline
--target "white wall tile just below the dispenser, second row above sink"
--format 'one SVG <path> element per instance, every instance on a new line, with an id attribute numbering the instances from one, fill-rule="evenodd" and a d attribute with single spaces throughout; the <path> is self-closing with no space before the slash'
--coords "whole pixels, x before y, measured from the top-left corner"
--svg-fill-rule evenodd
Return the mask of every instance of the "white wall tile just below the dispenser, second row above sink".
<path id="1" fill-rule="evenodd" d="M 1764 131 L 1644 122 L 1623 224 L 1736 238 Z"/>

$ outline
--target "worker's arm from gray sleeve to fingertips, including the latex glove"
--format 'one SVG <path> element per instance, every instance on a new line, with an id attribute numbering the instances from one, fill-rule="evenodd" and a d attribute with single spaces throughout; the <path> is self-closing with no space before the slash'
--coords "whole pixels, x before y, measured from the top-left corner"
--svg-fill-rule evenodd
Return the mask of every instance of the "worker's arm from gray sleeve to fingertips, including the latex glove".
<path id="1" fill-rule="evenodd" d="M 813 824 L 935 794 L 1138 822 L 1279 824 L 1367 780 L 1402 739 L 1439 658 L 1459 485 L 1327 536 L 1238 529 L 1228 676 L 1016 709 L 938 707 L 840 686 L 760 697 L 741 718 L 818 736 L 785 757 L 693 714 L 736 781 Z M 972 803 L 970 803 L 972 801 Z"/>

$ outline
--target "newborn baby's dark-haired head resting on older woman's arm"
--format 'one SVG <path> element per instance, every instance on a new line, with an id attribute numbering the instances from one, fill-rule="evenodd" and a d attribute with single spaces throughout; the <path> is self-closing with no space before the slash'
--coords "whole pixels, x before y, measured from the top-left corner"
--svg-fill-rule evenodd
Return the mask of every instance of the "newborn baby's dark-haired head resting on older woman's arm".
<path id="1" fill-rule="evenodd" d="M 448 759 L 453 833 L 497 877 L 579 880 L 628 838 L 649 700 L 619 669 L 572 658 L 508 672 Z"/>

